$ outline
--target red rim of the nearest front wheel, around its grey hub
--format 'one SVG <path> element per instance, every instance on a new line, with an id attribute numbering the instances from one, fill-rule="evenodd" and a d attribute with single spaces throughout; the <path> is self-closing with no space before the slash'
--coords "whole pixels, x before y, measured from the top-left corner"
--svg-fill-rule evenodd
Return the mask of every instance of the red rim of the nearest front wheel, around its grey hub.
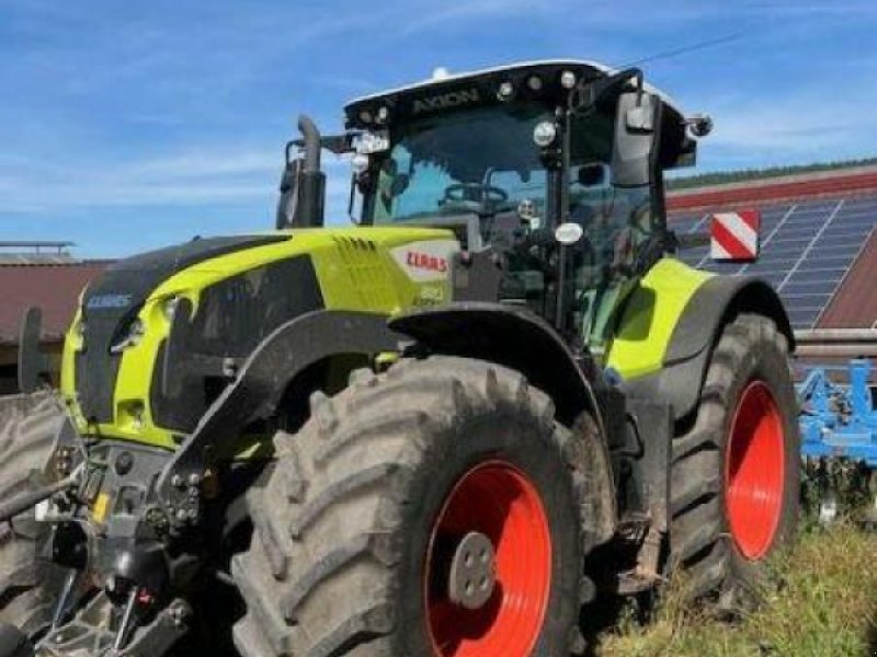
<path id="1" fill-rule="evenodd" d="M 440 579 L 446 546 L 469 532 L 490 539 L 497 585 L 482 608 L 449 600 Z M 491 461 L 468 471 L 448 495 L 426 554 L 425 612 L 436 657 L 528 657 L 551 588 L 551 535 L 539 493 L 521 470 Z"/>

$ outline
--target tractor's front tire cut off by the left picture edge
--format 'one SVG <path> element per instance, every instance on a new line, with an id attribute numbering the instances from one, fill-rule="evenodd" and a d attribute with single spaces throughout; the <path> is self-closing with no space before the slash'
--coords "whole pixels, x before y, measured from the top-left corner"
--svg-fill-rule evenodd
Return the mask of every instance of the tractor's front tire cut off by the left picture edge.
<path id="1" fill-rule="evenodd" d="M 0 499 L 31 486 L 32 470 L 42 469 L 64 423 L 64 411 L 50 393 L 0 397 Z M 41 586 L 50 567 L 37 560 L 39 528 L 33 510 L 0 525 L 0 623 L 31 634 L 50 620 L 52 600 Z"/>

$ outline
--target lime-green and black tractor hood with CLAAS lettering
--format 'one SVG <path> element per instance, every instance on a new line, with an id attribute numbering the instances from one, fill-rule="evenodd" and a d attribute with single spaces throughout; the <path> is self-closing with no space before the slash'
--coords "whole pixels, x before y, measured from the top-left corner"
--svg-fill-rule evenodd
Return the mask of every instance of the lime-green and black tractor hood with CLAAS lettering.
<path id="1" fill-rule="evenodd" d="M 276 328 L 320 310 L 442 303 L 458 249 L 446 230 L 296 229 L 117 263 L 83 293 L 62 394 L 83 435 L 173 449 Z"/>

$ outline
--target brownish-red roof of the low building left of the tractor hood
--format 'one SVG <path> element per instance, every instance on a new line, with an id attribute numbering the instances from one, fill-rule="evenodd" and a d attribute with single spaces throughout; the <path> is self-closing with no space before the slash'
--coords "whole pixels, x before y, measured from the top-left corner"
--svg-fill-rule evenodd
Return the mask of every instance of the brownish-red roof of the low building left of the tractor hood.
<path id="1" fill-rule="evenodd" d="M 109 264 L 0 266 L 0 343 L 18 342 L 21 318 L 31 306 L 43 309 L 44 338 L 61 337 L 73 318 L 79 293 Z"/>

